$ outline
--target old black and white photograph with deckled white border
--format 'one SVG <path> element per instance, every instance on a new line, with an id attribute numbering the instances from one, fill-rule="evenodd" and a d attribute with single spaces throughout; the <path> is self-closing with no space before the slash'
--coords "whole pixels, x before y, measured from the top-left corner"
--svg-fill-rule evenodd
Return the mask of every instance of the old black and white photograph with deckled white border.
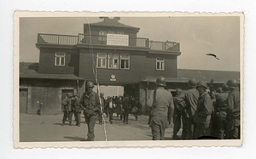
<path id="1" fill-rule="evenodd" d="M 15 13 L 15 147 L 241 145 L 243 19 Z"/>

